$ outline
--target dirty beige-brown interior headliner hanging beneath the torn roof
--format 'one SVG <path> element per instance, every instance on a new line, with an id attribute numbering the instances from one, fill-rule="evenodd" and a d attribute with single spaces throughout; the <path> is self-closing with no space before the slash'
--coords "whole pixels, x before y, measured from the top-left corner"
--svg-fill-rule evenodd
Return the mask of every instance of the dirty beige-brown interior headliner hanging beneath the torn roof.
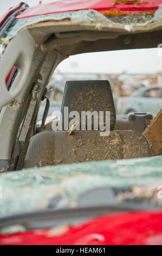
<path id="1" fill-rule="evenodd" d="M 48 52 L 56 49 L 65 56 L 88 52 L 155 48 L 162 38 L 162 22 L 133 27 L 131 31 L 126 31 L 123 25 L 116 25 L 113 28 L 104 24 L 99 28 L 97 26 L 98 23 L 78 25 L 72 22 L 48 21 L 27 28 L 36 44 L 41 46 L 41 50 Z"/>

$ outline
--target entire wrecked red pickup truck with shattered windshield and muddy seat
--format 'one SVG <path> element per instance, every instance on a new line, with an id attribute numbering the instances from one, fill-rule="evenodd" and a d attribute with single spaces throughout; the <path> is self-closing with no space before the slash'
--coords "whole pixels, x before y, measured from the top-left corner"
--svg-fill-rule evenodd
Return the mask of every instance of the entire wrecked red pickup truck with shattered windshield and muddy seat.
<path id="1" fill-rule="evenodd" d="M 57 65 L 74 54 L 156 48 L 161 0 L 21 2 L 0 26 L 0 244 L 162 245 L 162 110 L 118 119 L 109 81 L 67 81 L 64 129 L 44 125 Z M 65 107 L 109 112 L 109 135 L 93 122 L 65 127 Z"/>

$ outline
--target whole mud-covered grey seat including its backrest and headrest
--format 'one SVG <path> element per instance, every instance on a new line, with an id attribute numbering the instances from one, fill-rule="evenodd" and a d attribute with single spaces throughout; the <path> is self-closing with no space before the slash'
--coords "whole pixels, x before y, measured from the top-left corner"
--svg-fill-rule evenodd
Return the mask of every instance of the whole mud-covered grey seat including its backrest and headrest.
<path id="1" fill-rule="evenodd" d="M 147 139 L 137 131 L 113 131 L 116 121 L 111 87 L 108 81 L 69 81 L 66 83 L 61 112 L 110 112 L 109 136 L 100 131 L 45 131 L 38 133 L 29 143 L 24 167 L 49 166 L 98 160 L 130 159 L 151 156 Z M 86 119 L 87 120 L 87 119 Z M 70 119 L 68 119 L 70 121 Z M 62 122 L 64 127 L 64 122 Z M 80 123 L 81 126 L 81 123 Z"/>

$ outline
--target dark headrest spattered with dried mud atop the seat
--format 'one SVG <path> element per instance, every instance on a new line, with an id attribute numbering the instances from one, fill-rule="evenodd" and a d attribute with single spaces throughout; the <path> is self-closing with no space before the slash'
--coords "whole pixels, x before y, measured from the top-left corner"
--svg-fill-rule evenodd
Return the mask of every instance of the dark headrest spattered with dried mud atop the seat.
<path id="1" fill-rule="evenodd" d="M 68 107 L 68 113 L 77 111 L 80 115 L 81 111 L 96 111 L 98 114 L 99 111 L 103 111 L 104 118 L 105 112 L 109 111 L 110 129 L 114 129 L 116 113 L 111 86 L 107 80 L 67 81 L 61 106 L 62 127 L 64 127 L 64 107 Z M 69 121 L 71 119 L 73 118 L 68 118 Z M 105 121 L 105 119 L 103 120 Z"/>

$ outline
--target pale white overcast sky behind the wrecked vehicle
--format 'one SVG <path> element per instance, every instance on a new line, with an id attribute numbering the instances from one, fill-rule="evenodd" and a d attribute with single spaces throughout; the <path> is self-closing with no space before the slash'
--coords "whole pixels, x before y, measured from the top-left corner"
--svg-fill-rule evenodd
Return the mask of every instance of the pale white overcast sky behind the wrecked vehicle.
<path id="1" fill-rule="evenodd" d="M 57 0 L 59 1 L 59 0 Z M 85 0 L 86 1 L 86 0 Z M 21 0 L 1 0 L 0 16 Z M 24 0 L 30 6 L 38 4 L 38 0 Z M 42 0 L 42 3 L 54 2 Z M 162 39 L 159 44 L 162 44 Z M 58 66 L 62 72 L 157 72 L 162 70 L 162 57 L 159 49 L 128 50 L 86 53 L 71 56 Z"/>

